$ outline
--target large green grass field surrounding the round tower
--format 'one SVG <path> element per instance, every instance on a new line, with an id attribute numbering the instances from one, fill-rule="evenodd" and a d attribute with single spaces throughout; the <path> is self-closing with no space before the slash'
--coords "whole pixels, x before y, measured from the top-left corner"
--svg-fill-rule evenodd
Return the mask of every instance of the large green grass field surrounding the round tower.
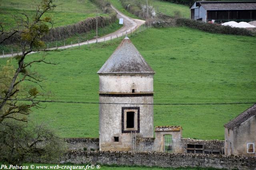
<path id="1" fill-rule="evenodd" d="M 154 103 L 256 102 L 256 38 L 220 35 L 186 27 L 146 29 L 132 43 L 156 71 Z M 62 52 L 37 53 L 58 65 L 36 64 L 47 78 L 48 100 L 98 102 L 96 72 L 118 41 Z M 0 65 L 7 59 L 0 59 Z M 13 60 L 15 62 L 15 60 Z M 44 121 L 61 137 L 98 137 L 98 104 L 45 103 L 30 119 Z M 223 125 L 252 104 L 156 105 L 154 125 L 181 125 L 183 137 L 224 139 Z"/>

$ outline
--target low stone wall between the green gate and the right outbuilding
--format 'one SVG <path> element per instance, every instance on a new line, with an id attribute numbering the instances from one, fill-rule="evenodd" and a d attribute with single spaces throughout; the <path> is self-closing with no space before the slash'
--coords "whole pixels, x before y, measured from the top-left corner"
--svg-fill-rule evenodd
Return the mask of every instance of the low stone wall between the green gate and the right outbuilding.
<path id="1" fill-rule="evenodd" d="M 204 149 L 208 150 L 222 150 L 224 147 L 224 141 L 219 140 L 195 140 L 195 139 L 181 139 L 181 146 L 184 153 L 186 153 L 187 144 L 192 145 L 204 145 Z"/>

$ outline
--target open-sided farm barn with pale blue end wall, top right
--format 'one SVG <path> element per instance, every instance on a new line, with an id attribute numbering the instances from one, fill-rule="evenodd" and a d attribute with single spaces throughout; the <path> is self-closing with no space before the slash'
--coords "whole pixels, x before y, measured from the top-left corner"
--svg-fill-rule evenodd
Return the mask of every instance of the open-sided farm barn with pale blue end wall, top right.
<path id="1" fill-rule="evenodd" d="M 256 1 L 196 1 L 190 7 L 190 18 L 204 22 L 215 20 L 249 22 L 256 20 Z"/>

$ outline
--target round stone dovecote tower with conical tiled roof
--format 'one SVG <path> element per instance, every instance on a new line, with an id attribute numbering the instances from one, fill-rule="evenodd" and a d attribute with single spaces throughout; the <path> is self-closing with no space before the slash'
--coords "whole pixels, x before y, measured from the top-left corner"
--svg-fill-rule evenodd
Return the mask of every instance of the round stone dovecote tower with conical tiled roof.
<path id="1" fill-rule="evenodd" d="M 152 138 L 155 72 L 128 37 L 97 73 L 100 150 L 131 150 L 135 134 Z"/>

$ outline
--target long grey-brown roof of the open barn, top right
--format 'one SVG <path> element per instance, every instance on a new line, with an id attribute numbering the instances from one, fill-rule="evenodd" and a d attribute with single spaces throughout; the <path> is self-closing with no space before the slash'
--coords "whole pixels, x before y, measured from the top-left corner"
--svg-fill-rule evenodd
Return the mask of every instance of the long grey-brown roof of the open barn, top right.
<path id="1" fill-rule="evenodd" d="M 240 2 L 240 3 L 200 3 L 206 10 L 256 10 L 256 2 Z"/>

